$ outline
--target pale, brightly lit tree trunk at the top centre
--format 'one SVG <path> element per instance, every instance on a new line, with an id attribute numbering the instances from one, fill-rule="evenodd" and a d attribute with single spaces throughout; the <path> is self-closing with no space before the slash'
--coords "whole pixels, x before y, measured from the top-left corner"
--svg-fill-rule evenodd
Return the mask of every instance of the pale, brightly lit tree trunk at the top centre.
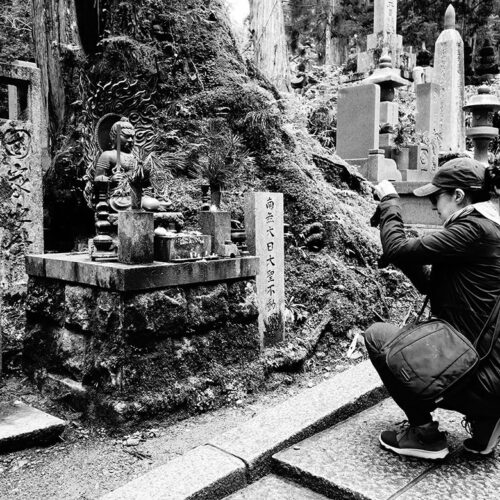
<path id="1" fill-rule="evenodd" d="M 255 65 L 279 90 L 290 90 L 285 22 L 281 0 L 250 0 Z"/>

